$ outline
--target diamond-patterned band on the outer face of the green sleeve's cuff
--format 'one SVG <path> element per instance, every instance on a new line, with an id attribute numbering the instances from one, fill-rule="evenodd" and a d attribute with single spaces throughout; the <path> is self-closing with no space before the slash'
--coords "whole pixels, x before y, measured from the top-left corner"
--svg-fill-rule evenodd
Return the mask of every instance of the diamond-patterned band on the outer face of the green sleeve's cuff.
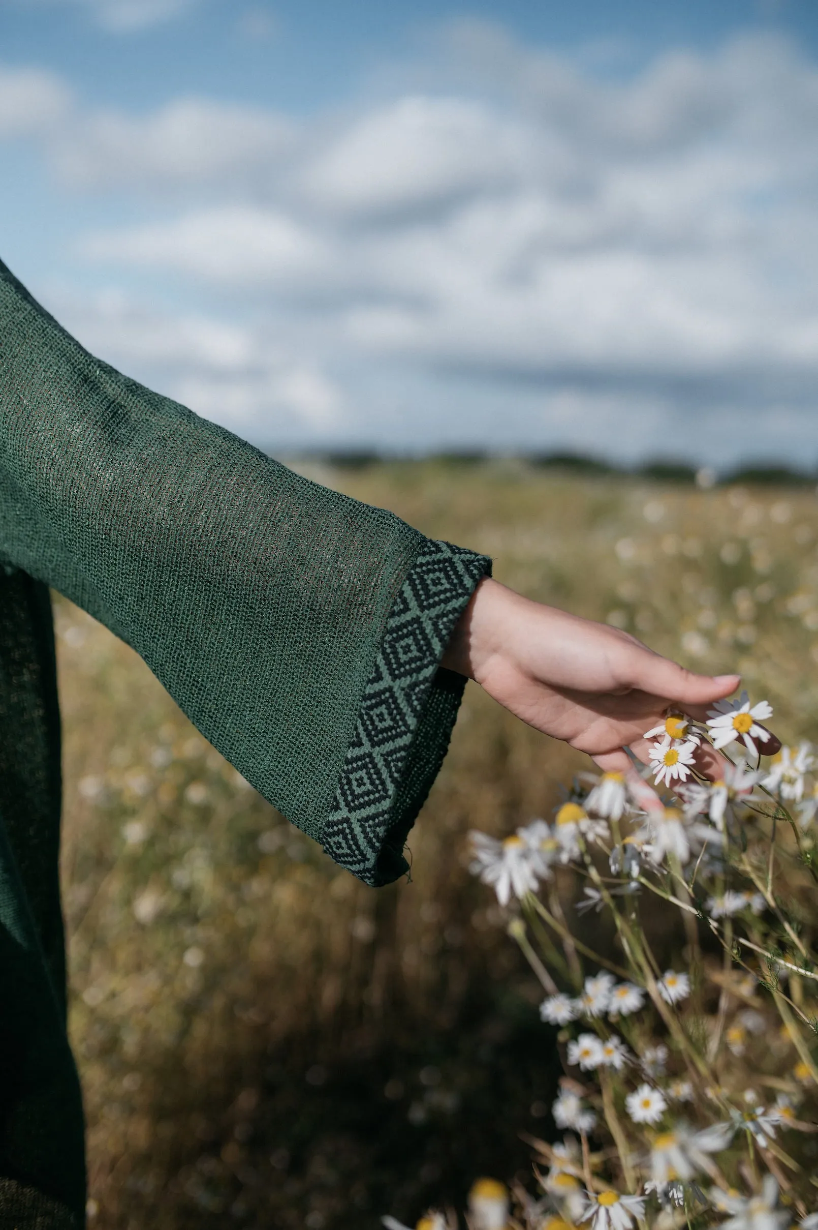
<path id="1" fill-rule="evenodd" d="M 382 883 L 378 856 L 395 822 L 400 779 L 440 659 L 478 581 L 490 571 L 485 556 L 430 541 L 389 611 L 322 833 L 327 854 L 366 883 Z M 435 731 L 442 752 L 448 733 Z M 404 819 L 408 831 L 414 817 Z"/>

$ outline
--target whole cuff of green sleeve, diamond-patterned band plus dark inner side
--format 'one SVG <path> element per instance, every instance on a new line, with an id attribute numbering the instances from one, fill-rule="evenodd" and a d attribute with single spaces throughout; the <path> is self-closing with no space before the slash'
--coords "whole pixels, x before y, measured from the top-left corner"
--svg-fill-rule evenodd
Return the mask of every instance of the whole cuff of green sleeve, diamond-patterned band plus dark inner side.
<path id="1" fill-rule="evenodd" d="M 430 541 L 387 619 L 322 841 L 367 884 L 408 870 L 403 846 L 446 755 L 465 678 L 440 668 L 491 561 Z"/>

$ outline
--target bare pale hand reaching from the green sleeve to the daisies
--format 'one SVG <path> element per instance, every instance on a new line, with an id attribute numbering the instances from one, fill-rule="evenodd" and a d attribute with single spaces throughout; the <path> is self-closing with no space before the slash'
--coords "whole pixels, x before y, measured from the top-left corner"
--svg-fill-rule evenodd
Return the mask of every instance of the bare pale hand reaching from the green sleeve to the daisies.
<path id="1" fill-rule="evenodd" d="M 490 577 L 477 587 L 442 664 L 477 680 L 529 726 L 587 753 L 607 772 L 647 763 L 668 708 L 704 721 L 739 675 L 698 675 L 619 629 L 523 598 Z M 777 752 L 777 739 L 764 753 Z M 703 747 L 696 768 L 721 776 L 723 758 Z"/>

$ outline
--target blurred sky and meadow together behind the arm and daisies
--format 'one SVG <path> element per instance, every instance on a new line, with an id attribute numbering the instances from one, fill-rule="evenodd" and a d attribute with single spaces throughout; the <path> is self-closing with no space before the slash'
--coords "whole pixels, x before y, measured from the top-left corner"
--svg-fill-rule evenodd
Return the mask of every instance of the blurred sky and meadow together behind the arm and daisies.
<path id="1" fill-rule="evenodd" d="M 813 0 L 0 0 L 0 256 L 129 375 L 814 739 L 817 57 Z M 587 763 L 469 685 L 373 893 L 56 627 L 91 1225 L 531 1186 L 553 1038 L 465 834 Z"/>

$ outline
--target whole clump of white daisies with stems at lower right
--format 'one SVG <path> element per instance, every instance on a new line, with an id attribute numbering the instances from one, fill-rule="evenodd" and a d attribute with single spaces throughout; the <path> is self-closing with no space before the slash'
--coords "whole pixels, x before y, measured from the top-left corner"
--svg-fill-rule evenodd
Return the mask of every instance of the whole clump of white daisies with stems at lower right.
<path id="1" fill-rule="evenodd" d="M 817 759 L 802 743 L 763 761 L 777 747 L 764 724 L 771 716 L 747 694 L 720 701 L 704 722 L 668 712 L 645 733 L 650 769 L 581 775 L 553 820 L 536 819 L 505 841 L 470 835 L 472 871 L 508 909 L 508 931 L 548 991 L 540 1018 L 558 1030 L 565 1069 L 551 1116 L 566 1133 L 537 1143 L 539 1192 L 515 1193 L 517 1218 L 507 1202 L 488 1219 L 470 1209 L 473 1230 L 818 1230 L 818 1198 L 806 1180 L 793 1186 L 800 1164 L 782 1135 L 818 1132 L 801 1105 L 818 1085 L 818 1027 L 798 1032 L 798 1022 L 818 1020 L 818 989 L 814 1009 L 803 991 L 804 979 L 818 980 L 818 959 L 776 893 L 771 854 L 786 819 L 786 856 L 811 867 Z M 726 756 L 719 781 L 698 769 L 705 744 Z M 749 855 L 748 833 L 758 841 Z M 599 957 L 618 973 L 583 977 L 578 953 L 593 956 L 587 927 L 571 927 L 558 892 L 567 867 L 582 877 L 576 913 L 608 911 L 628 969 Z M 695 989 L 690 966 L 662 972 L 652 956 L 639 913 L 646 893 L 685 919 Z M 715 937 L 715 957 L 703 958 L 700 932 Z M 543 935 L 540 958 L 529 937 Z M 791 972 L 801 983 L 787 985 Z M 812 982 L 806 986 L 809 994 Z M 766 1096 L 737 1073 L 748 1048 Z"/>

